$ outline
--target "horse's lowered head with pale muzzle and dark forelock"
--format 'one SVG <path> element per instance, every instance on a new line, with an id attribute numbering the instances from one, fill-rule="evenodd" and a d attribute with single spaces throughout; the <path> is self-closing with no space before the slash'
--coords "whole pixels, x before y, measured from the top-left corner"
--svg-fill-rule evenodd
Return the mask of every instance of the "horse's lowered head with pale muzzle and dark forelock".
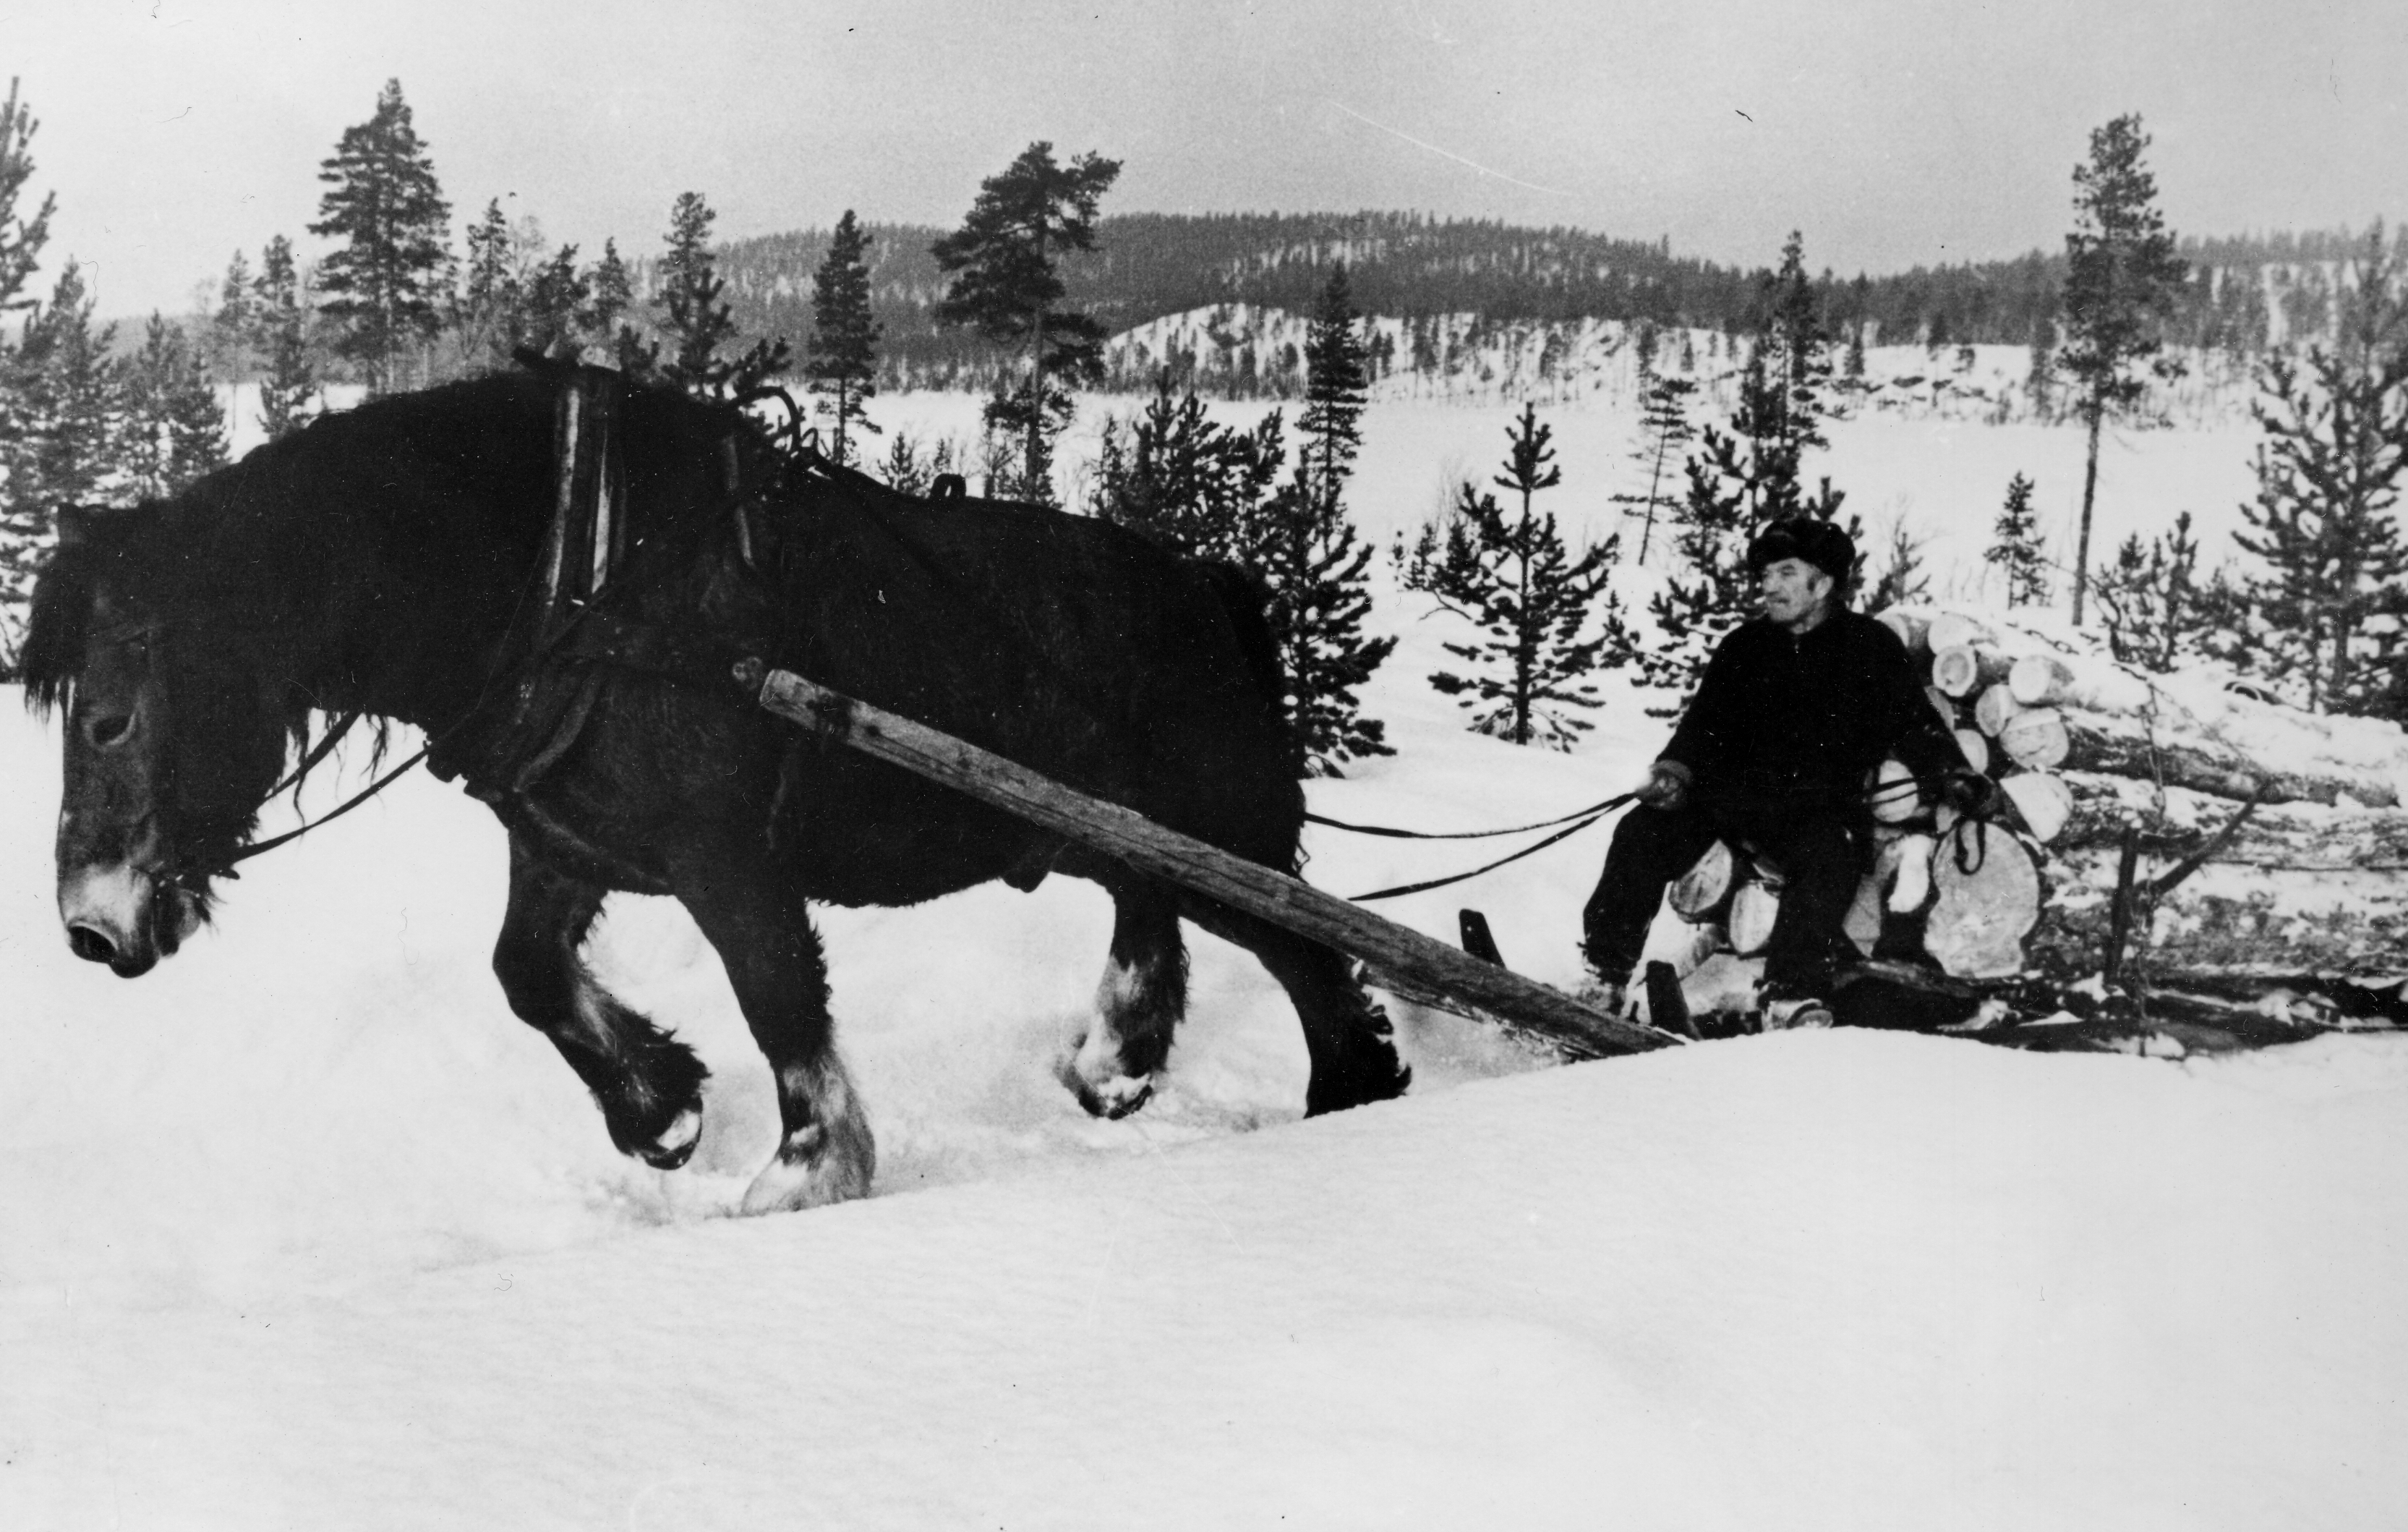
<path id="1" fill-rule="evenodd" d="M 200 927 L 291 730 L 241 617 L 195 590 L 169 503 L 65 508 L 34 588 L 24 679 L 65 708 L 58 913 L 77 956 L 147 973 Z"/>

